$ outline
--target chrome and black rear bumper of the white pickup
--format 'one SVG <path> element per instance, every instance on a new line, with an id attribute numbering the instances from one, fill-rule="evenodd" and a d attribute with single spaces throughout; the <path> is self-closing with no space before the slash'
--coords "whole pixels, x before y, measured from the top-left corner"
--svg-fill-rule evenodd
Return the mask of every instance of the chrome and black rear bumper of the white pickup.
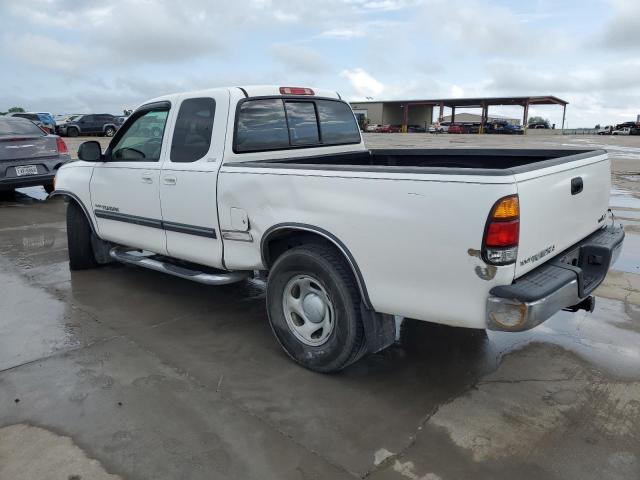
<path id="1" fill-rule="evenodd" d="M 577 306 L 602 283 L 623 241 L 622 225 L 600 229 L 511 285 L 494 287 L 487 299 L 487 328 L 529 330 Z"/>

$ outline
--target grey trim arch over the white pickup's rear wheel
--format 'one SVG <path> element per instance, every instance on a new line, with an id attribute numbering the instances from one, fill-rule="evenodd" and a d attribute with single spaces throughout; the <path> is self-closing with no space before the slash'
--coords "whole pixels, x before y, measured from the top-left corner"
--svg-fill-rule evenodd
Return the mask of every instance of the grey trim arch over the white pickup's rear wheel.
<path id="1" fill-rule="evenodd" d="M 272 226 L 260 241 L 262 263 L 270 268 L 284 252 L 305 243 L 324 243 L 338 250 L 353 273 L 362 302 L 368 309 L 373 309 L 364 277 L 355 258 L 338 237 L 323 228 L 303 223 L 280 223 Z"/>

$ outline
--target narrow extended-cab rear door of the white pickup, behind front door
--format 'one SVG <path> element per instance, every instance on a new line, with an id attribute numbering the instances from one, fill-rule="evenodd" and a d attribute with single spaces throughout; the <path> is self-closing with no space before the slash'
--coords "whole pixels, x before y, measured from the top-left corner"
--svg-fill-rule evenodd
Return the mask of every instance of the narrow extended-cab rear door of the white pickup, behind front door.
<path id="1" fill-rule="evenodd" d="M 222 267 L 217 176 L 229 92 L 181 97 L 160 175 L 162 219 L 172 257 Z"/>

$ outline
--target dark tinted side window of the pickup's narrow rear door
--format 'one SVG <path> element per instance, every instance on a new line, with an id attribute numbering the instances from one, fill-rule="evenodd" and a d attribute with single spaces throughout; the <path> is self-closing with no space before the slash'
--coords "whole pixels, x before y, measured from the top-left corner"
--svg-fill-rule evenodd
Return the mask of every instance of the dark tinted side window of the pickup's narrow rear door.
<path id="1" fill-rule="evenodd" d="M 189 98 L 182 102 L 171 141 L 172 162 L 195 162 L 207 154 L 215 111 L 213 98 Z"/>

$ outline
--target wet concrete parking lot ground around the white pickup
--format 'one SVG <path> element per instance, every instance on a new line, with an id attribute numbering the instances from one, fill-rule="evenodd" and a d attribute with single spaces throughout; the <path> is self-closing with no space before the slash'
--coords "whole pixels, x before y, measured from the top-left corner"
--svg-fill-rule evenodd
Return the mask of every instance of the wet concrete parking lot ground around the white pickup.
<path id="1" fill-rule="evenodd" d="M 263 282 L 71 273 L 64 202 L 22 189 L 0 200 L 0 478 L 639 478 L 640 137 L 366 142 L 608 149 L 627 237 L 595 311 L 524 333 L 406 319 L 393 347 L 315 374 L 275 341 Z"/>

